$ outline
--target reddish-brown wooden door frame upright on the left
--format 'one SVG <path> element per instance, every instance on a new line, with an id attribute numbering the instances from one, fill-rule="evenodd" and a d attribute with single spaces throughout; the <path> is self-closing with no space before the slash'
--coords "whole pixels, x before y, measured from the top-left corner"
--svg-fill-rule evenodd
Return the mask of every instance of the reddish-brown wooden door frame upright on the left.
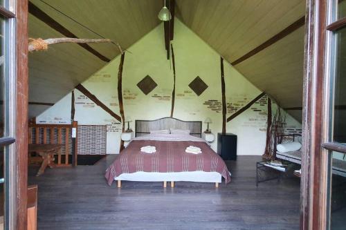
<path id="1" fill-rule="evenodd" d="M 15 1 L 16 15 L 16 229 L 27 228 L 28 189 L 28 0 Z"/>

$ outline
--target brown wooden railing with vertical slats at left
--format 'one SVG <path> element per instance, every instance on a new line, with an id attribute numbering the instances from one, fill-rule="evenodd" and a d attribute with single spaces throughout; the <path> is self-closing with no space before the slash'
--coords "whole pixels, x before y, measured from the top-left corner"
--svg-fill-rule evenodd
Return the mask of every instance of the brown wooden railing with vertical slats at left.
<path id="1" fill-rule="evenodd" d="M 72 155 L 73 166 L 77 165 L 77 140 L 72 137 L 73 128 L 77 132 L 77 122 L 73 124 L 29 124 L 29 144 L 63 144 L 57 153 L 57 165 L 69 165 Z"/>

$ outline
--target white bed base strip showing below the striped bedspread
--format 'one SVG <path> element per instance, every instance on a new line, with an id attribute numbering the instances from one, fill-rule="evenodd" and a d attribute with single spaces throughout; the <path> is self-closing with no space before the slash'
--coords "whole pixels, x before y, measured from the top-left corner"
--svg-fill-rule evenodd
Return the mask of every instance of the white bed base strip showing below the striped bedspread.
<path id="1" fill-rule="evenodd" d="M 143 181 L 143 182 L 157 182 L 157 181 L 190 181 L 190 182 L 219 182 L 221 183 L 221 174 L 217 172 L 179 172 L 179 173 L 122 173 L 114 180 L 130 180 L 130 181 Z"/>

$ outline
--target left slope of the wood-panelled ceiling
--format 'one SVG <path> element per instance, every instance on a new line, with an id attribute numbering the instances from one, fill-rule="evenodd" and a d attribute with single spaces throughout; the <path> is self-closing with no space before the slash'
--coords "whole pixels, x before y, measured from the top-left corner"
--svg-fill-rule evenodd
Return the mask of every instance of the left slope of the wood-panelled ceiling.
<path id="1" fill-rule="evenodd" d="M 162 7 L 157 0 L 30 0 L 30 3 L 79 38 L 100 39 L 101 35 L 118 42 L 122 48 L 128 48 L 160 23 L 157 14 Z M 29 37 L 65 37 L 32 12 L 28 21 Z M 89 46 L 107 59 L 119 54 L 114 44 Z M 107 61 L 78 44 L 57 44 L 46 51 L 30 53 L 29 116 L 42 113 L 48 108 L 42 103 L 54 104 L 105 64 Z"/>

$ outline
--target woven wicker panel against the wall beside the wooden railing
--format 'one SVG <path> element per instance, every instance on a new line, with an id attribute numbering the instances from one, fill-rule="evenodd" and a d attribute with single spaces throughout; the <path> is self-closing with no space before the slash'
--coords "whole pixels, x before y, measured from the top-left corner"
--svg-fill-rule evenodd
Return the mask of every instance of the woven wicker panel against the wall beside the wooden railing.
<path id="1" fill-rule="evenodd" d="M 78 155 L 106 154 L 107 126 L 78 126 Z"/>

